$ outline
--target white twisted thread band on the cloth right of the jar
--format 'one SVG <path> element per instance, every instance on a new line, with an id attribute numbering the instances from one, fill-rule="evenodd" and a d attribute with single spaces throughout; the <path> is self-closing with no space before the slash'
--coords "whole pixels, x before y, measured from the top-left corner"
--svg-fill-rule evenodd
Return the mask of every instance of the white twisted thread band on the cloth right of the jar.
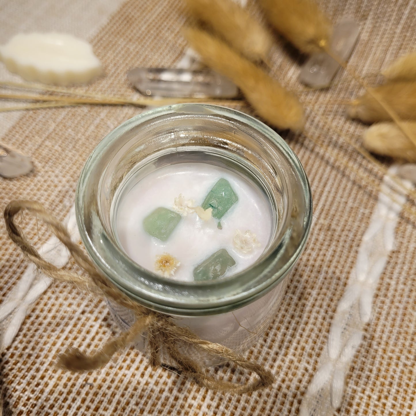
<path id="1" fill-rule="evenodd" d="M 333 415 L 342 405 L 345 376 L 364 337 L 364 325 L 371 319 L 376 287 L 394 248 L 399 214 L 406 202 L 401 188 L 390 178 L 392 174 L 400 175 L 400 170 L 401 167 L 391 166 L 383 178 L 355 267 L 329 328 L 326 353 L 322 355 L 321 363 L 302 399 L 301 416 Z M 416 165 L 406 165 L 406 177 L 409 177 L 409 170 L 416 177 Z M 408 189 L 411 186 L 408 181 L 402 183 Z M 322 402 L 328 397 L 329 406 Z"/>

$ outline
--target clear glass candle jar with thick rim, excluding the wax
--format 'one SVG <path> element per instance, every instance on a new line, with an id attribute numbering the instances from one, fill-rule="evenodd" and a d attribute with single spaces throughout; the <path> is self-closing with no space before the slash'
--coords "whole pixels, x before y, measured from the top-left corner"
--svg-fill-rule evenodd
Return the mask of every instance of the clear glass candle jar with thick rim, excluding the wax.
<path id="1" fill-rule="evenodd" d="M 114 202 L 133 175 L 198 161 L 255 183 L 270 203 L 272 230 L 248 269 L 218 280 L 183 282 L 156 275 L 126 255 L 116 235 Z M 82 241 L 111 282 L 201 338 L 244 352 L 278 312 L 309 234 L 312 198 L 299 160 L 265 124 L 219 106 L 177 104 L 126 121 L 98 144 L 79 178 L 76 210 Z M 122 327 L 133 323 L 129 310 L 109 306 Z"/>

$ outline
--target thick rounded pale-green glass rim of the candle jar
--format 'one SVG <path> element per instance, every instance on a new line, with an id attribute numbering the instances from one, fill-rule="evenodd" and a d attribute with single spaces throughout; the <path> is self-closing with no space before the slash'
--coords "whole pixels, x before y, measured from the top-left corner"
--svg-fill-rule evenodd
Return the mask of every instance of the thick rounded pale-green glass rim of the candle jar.
<path id="1" fill-rule="evenodd" d="M 302 236 L 291 258 L 277 272 L 271 273 L 274 261 L 272 256 L 277 257 L 279 251 L 285 250 L 285 244 L 288 240 L 287 235 L 282 238 L 277 250 L 270 253 L 258 265 L 255 264 L 253 267 L 220 280 L 186 282 L 156 275 L 131 260 L 120 247 L 112 243 L 111 236 L 108 235 L 100 219 L 99 209 L 94 213 L 94 227 L 87 229 L 86 218 L 91 216 L 91 210 L 94 209 L 91 204 L 86 203 L 88 197 L 87 185 L 91 181 L 91 173 L 94 170 L 106 169 L 106 167 L 103 168 L 101 160 L 106 149 L 111 144 L 116 143 L 124 134 L 141 124 L 159 116 L 178 113 L 215 114 L 250 126 L 265 136 L 272 145 L 276 146 L 293 168 L 295 179 L 300 183 L 305 198 L 305 210 L 299 213 L 303 216 Z M 75 199 L 77 224 L 81 240 L 98 269 L 112 283 L 140 304 L 159 312 L 189 316 L 228 312 L 253 302 L 271 290 L 272 287 L 285 278 L 302 253 L 309 235 L 312 219 L 310 185 L 299 159 L 290 146 L 274 130 L 254 117 L 237 110 L 208 104 L 173 104 L 158 107 L 134 116 L 116 127 L 102 139 L 87 159 L 79 177 Z M 101 243 L 105 241 L 105 244 L 109 244 L 111 250 L 114 250 L 113 253 L 117 253 L 117 262 L 111 264 L 111 257 L 113 256 L 108 253 L 104 243 L 102 245 L 94 243 L 97 238 L 93 238 L 92 233 L 97 233 L 99 241 Z M 126 275 L 128 272 L 133 272 L 134 278 Z M 250 279 L 248 276 L 249 272 L 251 275 L 258 273 L 258 277 L 253 281 L 253 278 Z"/>

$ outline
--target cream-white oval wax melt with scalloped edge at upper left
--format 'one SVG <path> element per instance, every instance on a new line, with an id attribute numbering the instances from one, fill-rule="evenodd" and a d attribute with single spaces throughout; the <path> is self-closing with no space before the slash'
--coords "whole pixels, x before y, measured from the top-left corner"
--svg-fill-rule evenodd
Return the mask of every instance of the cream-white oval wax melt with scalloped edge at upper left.
<path id="1" fill-rule="evenodd" d="M 10 72 L 45 84 L 85 83 L 102 74 L 91 45 L 64 33 L 20 33 L 0 47 L 0 58 Z"/>

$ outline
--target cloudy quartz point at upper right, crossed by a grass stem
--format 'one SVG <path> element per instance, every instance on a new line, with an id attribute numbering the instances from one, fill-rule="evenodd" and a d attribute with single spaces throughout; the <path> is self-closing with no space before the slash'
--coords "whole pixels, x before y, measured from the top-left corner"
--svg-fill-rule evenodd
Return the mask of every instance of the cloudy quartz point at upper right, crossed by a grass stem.
<path id="1" fill-rule="evenodd" d="M 330 46 L 332 52 L 342 61 L 347 61 L 357 43 L 359 26 L 352 19 L 341 20 L 334 27 Z M 326 88 L 334 79 L 339 64 L 325 52 L 313 54 L 302 65 L 299 80 L 314 88 Z"/>

